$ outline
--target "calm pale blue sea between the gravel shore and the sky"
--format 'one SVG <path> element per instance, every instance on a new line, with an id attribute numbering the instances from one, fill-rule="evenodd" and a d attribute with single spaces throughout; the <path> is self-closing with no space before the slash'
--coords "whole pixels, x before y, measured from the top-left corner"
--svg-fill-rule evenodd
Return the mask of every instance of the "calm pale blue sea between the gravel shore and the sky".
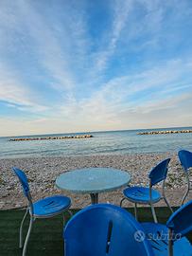
<path id="1" fill-rule="evenodd" d="M 0 158 L 59 155 L 163 153 L 177 152 L 180 149 L 192 151 L 192 134 L 151 136 L 137 135 L 137 133 L 141 131 L 183 129 L 192 129 L 192 127 L 95 132 L 91 133 L 94 136 L 93 138 L 85 139 L 11 142 L 9 141 L 10 137 L 0 137 Z M 72 136 L 77 134 L 67 134 L 67 136 L 70 135 Z M 66 134 L 33 137 L 47 136 L 66 136 Z"/>

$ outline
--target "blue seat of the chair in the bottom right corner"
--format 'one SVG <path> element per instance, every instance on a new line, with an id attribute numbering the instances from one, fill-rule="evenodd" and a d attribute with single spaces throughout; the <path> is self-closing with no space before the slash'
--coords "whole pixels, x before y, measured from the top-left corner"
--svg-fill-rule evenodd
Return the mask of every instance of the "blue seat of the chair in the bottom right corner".
<path id="1" fill-rule="evenodd" d="M 168 256 L 168 229 L 165 225 L 156 223 L 142 223 L 148 241 L 155 256 Z M 176 237 L 173 244 L 173 255 L 191 256 L 192 245 L 185 238 Z"/>

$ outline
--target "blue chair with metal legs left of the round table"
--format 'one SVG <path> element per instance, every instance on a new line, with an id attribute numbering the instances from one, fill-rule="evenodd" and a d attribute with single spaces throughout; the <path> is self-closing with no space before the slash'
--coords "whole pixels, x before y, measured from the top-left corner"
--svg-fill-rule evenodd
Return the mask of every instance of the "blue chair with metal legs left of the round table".
<path id="1" fill-rule="evenodd" d="M 23 247 L 23 225 L 24 221 L 26 219 L 27 213 L 30 214 L 30 223 L 29 228 L 26 234 L 26 241 L 23 248 L 23 256 L 26 255 L 26 247 L 29 240 L 30 232 L 32 229 L 33 222 L 36 219 L 39 218 L 51 218 L 53 216 L 56 216 L 58 214 L 61 214 L 63 211 L 67 210 L 71 214 L 69 208 L 71 206 L 71 199 L 66 196 L 61 195 L 54 195 L 46 197 L 42 200 L 39 200 L 35 203 L 32 202 L 32 198 L 29 191 L 29 186 L 26 178 L 26 174 L 15 167 L 12 168 L 12 171 L 14 174 L 16 174 L 23 186 L 23 191 L 26 195 L 26 198 L 28 200 L 28 206 L 26 208 L 26 214 L 24 215 L 24 218 L 21 222 L 20 226 L 20 242 L 19 247 Z"/>

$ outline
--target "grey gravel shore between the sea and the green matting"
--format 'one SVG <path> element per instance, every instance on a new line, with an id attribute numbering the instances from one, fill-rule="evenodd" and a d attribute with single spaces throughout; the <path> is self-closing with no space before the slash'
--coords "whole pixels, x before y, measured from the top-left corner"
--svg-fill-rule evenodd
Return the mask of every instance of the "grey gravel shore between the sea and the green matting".
<path id="1" fill-rule="evenodd" d="M 176 154 L 135 154 L 135 155 L 86 155 L 62 157 L 33 157 L 0 159 L 0 209 L 13 209 L 26 206 L 17 177 L 11 167 L 23 169 L 28 177 L 33 200 L 51 194 L 65 194 L 72 199 L 72 208 L 82 208 L 90 204 L 89 194 L 82 195 L 61 192 L 55 188 L 55 180 L 59 174 L 85 167 L 113 167 L 128 171 L 131 174 L 131 185 L 148 186 L 148 172 L 158 162 L 171 157 L 166 178 L 166 195 L 172 206 L 179 206 L 186 190 L 182 167 Z M 161 189 L 161 187 L 157 187 Z M 119 204 L 122 190 L 99 194 L 100 202 Z M 187 199 L 192 199 L 192 194 Z M 165 205 L 162 201 L 157 206 Z M 126 202 L 125 206 L 132 206 Z"/>

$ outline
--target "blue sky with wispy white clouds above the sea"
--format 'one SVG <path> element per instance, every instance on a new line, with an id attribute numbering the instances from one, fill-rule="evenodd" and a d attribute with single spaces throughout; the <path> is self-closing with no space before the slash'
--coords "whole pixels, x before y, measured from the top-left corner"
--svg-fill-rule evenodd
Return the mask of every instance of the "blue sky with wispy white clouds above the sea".
<path id="1" fill-rule="evenodd" d="M 181 126 L 191 0 L 0 1 L 0 137 Z"/>

